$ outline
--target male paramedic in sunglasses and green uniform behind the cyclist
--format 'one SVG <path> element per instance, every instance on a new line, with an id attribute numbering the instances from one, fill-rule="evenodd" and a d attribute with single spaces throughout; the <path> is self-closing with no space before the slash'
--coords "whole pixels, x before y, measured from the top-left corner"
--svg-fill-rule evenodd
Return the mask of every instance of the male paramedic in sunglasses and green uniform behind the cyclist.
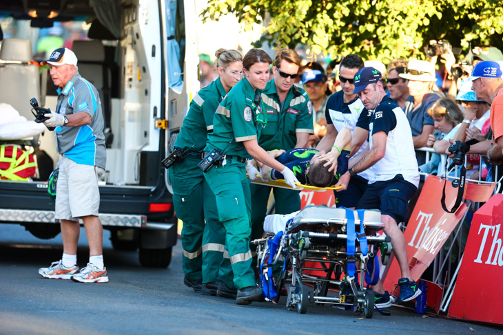
<path id="1" fill-rule="evenodd" d="M 260 134 L 258 145 L 267 151 L 305 148 L 309 134 L 313 133 L 311 100 L 304 89 L 294 86 L 299 67 L 300 56 L 297 52 L 290 49 L 278 50 L 274 59 L 274 78 L 262 91 L 262 100 L 267 110 L 267 127 Z M 252 240 L 262 237 L 271 189 L 276 214 L 300 210 L 299 191 L 258 184 L 251 184 L 250 189 Z"/>

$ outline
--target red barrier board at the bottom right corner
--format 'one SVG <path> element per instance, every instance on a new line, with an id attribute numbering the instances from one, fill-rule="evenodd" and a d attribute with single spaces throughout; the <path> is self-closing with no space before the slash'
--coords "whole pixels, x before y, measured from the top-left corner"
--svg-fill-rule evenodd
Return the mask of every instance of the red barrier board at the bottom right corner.
<path id="1" fill-rule="evenodd" d="M 503 324 L 503 195 L 473 215 L 449 316 Z"/>

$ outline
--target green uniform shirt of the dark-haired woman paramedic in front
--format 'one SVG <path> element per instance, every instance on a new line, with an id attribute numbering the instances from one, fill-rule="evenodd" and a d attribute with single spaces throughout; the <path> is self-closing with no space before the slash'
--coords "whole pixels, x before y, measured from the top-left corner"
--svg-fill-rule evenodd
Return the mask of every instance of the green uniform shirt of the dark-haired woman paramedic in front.
<path id="1" fill-rule="evenodd" d="M 205 151 L 225 150 L 225 155 L 250 158 L 243 141 L 256 140 L 256 117 L 260 109 L 254 104 L 255 91 L 243 78 L 229 91 L 213 118 L 213 133 L 208 134 Z"/>

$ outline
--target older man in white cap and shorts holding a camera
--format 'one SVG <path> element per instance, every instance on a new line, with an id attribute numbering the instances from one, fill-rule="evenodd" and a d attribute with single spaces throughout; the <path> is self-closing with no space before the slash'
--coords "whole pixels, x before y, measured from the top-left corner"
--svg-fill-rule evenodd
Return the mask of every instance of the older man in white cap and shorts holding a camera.
<path id="1" fill-rule="evenodd" d="M 96 88 L 78 72 L 77 58 L 65 47 L 54 50 L 47 62 L 58 87 L 56 111 L 45 114 L 43 123 L 54 127 L 59 159 L 54 218 L 61 220 L 63 257 L 39 274 L 49 279 L 72 279 L 81 283 L 106 283 L 103 265 L 103 227 L 98 217 L 98 178 L 105 172 L 103 114 Z M 42 64 L 44 65 L 44 64 Z M 89 263 L 79 272 L 76 263 L 82 219 L 89 242 Z"/>

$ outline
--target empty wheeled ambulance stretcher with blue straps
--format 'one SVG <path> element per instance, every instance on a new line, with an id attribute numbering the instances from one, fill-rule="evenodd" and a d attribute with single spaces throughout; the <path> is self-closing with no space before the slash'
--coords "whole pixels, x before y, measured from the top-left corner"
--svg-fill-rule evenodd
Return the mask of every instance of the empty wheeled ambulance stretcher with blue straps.
<path id="1" fill-rule="evenodd" d="M 383 228 L 378 210 L 307 206 L 291 215 L 267 215 L 267 238 L 251 241 L 257 246 L 265 299 L 278 303 L 286 293 L 287 309 L 301 314 L 309 303 L 319 303 L 351 307 L 371 318 L 374 292 L 365 288 L 365 271 L 379 248 L 390 242 L 387 236 L 376 236 Z M 309 274 L 313 270 L 325 275 Z M 329 290 L 341 271 L 346 275 L 340 292 Z"/>

